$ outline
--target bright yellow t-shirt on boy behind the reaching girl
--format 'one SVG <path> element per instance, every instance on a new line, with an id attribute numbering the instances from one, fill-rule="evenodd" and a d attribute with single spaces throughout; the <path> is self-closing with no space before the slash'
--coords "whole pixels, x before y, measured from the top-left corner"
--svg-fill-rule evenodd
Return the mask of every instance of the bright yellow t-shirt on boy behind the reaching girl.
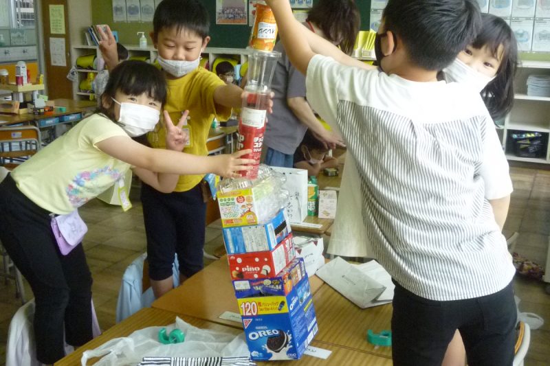
<path id="1" fill-rule="evenodd" d="M 168 101 L 164 109 L 170 113 L 174 124 L 179 122 L 181 113 L 189 110 L 190 146 L 184 152 L 193 155 L 208 155 L 206 139 L 214 116 L 219 121 L 226 121 L 231 115 L 231 108 L 214 103 L 214 91 L 225 83 L 218 76 L 203 67 L 198 67 L 186 76 L 168 81 Z M 147 135 L 153 148 L 166 147 L 166 130 L 159 125 L 157 130 Z M 203 175 L 182 175 L 175 187 L 176 192 L 185 192 L 195 187 Z"/>

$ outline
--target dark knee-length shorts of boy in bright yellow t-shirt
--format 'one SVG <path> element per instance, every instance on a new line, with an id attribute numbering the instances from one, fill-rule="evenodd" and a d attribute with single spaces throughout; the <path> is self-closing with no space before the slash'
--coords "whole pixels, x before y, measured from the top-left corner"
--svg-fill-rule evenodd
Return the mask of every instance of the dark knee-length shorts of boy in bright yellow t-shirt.
<path id="1" fill-rule="evenodd" d="M 206 203 L 200 184 L 186 192 L 162 193 L 142 185 L 149 277 L 161 281 L 172 275 L 177 254 L 179 273 L 191 277 L 204 266 Z"/>

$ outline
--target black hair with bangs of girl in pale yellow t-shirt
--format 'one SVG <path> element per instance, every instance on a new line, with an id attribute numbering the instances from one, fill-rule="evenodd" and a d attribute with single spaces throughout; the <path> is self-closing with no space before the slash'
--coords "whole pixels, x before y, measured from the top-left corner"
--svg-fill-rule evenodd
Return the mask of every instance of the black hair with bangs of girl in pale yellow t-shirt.
<path id="1" fill-rule="evenodd" d="M 162 71 L 144 61 L 128 60 L 120 62 L 109 73 L 109 81 L 101 98 L 109 98 L 111 101 L 110 98 L 115 98 L 117 91 L 127 95 L 147 93 L 150 98 L 158 100 L 164 107 L 168 87 Z M 114 120 L 113 104 L 111 103 L 111 108 L 105 108 L 100 103 L 98 111 Z"/>

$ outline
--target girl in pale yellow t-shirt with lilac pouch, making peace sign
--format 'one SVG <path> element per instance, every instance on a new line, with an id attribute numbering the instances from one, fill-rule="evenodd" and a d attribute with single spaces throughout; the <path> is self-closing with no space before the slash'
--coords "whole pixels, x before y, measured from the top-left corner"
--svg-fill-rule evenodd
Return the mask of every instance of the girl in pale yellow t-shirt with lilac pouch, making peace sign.
<path id="1" fill-rule="evenodd" d="M 170 150 L 148 148 L 131 139 L 155 128 L 166 93 L 164 75 L 153 65 L 123 62 L 111 71 L 96 113 L 0 183 L 0 241 L 34 293 L 34 339 L 41 363 L 53 364 L 65 356 L 64 334 L 75 347 L 92 337 L 92 279 L 81 244 L 86 227 L 78 207 L 118 184 L 120 201 L 128 209 L 124 186 L 130 182 L 121 179 L 129 169 L 156 190 L 171 192 L 179 174 L 238 176 L 235 172 L 252 162 L 239 158 L 245 151 L 216 157 L 181 152 L 186 142 L 181 124 L 187 113 L 175 126 L 164 112 Z M 67 233 L 59 216 L 72 218 L 69 231 L 78 229 L 76 238 L 63 236 L 64 241 L 56 236 L 56 229 Z"/>

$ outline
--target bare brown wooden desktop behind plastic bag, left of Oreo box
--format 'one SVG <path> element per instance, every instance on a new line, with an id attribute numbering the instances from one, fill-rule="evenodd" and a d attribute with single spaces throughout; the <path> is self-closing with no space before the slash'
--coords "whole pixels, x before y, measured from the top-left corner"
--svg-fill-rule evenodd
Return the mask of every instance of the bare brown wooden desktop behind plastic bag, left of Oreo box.
<path id="1" fill-rule="evenodd" d="M 311 293 L 315 294 L 324 283 L 317 276 L 311 277 Z M 239 313 L 225 255 L 155 300 L 151 306 L 233 328 L 243 328 L 241 323 L 219 319 L 225 311 Z"/>

